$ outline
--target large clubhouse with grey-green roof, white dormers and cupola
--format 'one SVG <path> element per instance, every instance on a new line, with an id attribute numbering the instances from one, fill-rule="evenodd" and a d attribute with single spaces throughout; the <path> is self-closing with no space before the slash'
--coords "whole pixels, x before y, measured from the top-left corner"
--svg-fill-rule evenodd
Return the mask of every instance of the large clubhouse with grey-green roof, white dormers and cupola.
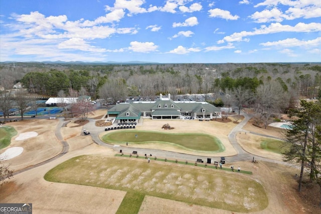
<path id="1" fill-rule="evenodd" d="M 114 122 L 137 122 L 140 118 L 166 119 L 216 119 L 222 118 L 220 109 L 207 102 L 173 101 L 171 95 L 157 101 L 136 101 L 120 103 L 107 112 L 107 118 Z"/>

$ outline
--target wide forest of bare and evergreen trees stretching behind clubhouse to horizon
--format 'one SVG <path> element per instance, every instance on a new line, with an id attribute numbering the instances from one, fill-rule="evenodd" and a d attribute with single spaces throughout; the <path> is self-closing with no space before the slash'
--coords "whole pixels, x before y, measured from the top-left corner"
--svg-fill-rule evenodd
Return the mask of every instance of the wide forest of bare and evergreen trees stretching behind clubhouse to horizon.
<path id="1" fill-rule="evenodd" d="M 1 63 L 0 86 L 21 82 L 30 94 L 44 97 L 89 95 L 116 103 L 128 97 L 153 100 L 159 94 L 208 94 L 207 100 L 238 111 L 250 106 L 257 124 L 287 113 L 299 98 L 321 94 L 318 63 L 85 64 Z"/>

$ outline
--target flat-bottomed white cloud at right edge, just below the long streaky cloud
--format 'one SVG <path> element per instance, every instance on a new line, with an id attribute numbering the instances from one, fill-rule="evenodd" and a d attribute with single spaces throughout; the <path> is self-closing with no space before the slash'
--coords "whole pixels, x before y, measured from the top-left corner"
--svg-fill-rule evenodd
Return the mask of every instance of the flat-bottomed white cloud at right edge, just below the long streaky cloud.
<path id="1" fill-rule="evenodd" d="M 276 42 L 266 42 L 261 43 L 262 46 L 275 46 L 275 47 L 306 47 L 306 48 L 314 48 L 314 47 L 320 47 L 321 46 L 321 37 L 318 37 L 314 40 L 298 40 L 296 38 L 290 38 L 285 40 L 279 40 Z"/>

